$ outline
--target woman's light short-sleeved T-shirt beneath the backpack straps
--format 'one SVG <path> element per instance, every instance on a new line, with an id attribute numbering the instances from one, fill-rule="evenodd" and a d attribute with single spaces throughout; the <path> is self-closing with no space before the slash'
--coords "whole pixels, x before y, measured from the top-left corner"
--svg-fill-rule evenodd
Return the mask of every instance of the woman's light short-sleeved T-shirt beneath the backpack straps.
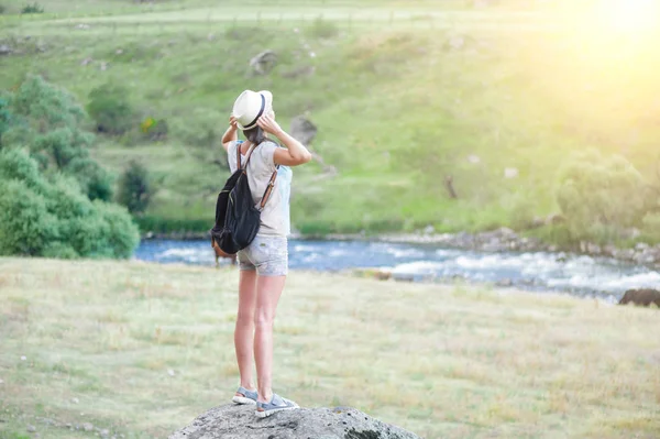
<path id="1" fill-rule="evenodd" d="M 227 149 L 227 160 L 232 173 L 238 169 L 237 147 L 242 143 L 242 141 L 232 141 Z M 273 156 L 278 147 L 274 142 L 262 142 L 252 151 L 248 164 L 248 182 L 255 205 L 261 202 L 273 173 L 277 171 L 275 186 L 261 215 L 258 231 L 261 235 L 287 237 L 290 233 L 289 197 L 293 172 L 288 166 L 277 167 L 275 165 Z M 246 154 L 248 151 L 243 151 L 243 153 Z M 246 161 L 244 154 L 241 154 L 243 166 Z"/>

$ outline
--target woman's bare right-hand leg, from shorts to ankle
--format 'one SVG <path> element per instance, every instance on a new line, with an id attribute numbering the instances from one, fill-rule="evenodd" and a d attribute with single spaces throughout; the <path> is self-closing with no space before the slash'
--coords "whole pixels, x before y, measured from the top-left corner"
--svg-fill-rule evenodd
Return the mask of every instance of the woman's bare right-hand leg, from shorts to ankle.
<path id="1" fill-rule="evenodd" d="M 273 321 L 285 281 L 286 276 L 260 276 L 256 281 L 254 360 L 262 403 L 268 403 L 273 397 Z"/>

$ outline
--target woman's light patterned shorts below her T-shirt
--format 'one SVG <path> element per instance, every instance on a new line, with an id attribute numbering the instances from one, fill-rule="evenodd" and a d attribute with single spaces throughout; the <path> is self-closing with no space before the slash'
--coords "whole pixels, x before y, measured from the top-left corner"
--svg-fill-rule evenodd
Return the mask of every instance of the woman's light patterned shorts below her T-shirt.
<path id="1" fill-rule="evenodd" d="M 256 270 L 260 276 L 288 274 L 288 242 L 285 237 L 256 235 L 245 249 L 239 251 L 241 270 Z"/>

